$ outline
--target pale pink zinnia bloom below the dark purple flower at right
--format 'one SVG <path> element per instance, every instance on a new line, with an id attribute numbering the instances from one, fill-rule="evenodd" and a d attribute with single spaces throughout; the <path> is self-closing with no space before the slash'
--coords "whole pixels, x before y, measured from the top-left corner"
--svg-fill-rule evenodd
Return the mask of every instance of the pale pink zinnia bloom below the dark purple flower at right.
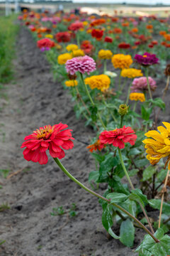
<path id="1" fill-rule="evenodd" d="M 156 81 L 149 77 L 149 85 L 152 91 L 154 91 L 157 88 Z M 138 91 L 146 91 L 147 90 L 147 78 L 135 78 L 132 82 L 132 87 L 130 87 L 130 90 L 132 92 L 138 92 Z"/>

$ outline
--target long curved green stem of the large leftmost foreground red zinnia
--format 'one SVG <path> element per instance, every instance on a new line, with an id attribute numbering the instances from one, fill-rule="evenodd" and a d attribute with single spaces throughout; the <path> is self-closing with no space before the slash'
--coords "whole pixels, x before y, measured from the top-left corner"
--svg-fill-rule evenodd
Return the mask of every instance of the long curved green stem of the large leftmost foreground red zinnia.
<path id="1" fill-rule="evenodd" d="M 54 158 L 54 160 L 55 160 L 56 164 L 60 167 L 60 169 L 64 172 L 64 174 L 66 174 L 69 178 L 71 178 L 72 181 L 74 181 L 79 186 L 81 186 L 81 188 L 84 188 L 85 191 L 88 191 L 89 193 L 91 193 L 92 195 L 96 196 L 97 198 L 100 198 L 103 201 L 106 201 L 107 203 L 110 203 L 110 200 L 108 200 L 107 198 L 104 198 L 103 196 L 99 195 L 98 193 L 92 191 L 90 188 L 87 188 L 86 186 L 84 186 L 84 184 L 79 182 L 77 180 L 77 178 L 74 178 L 74 176 L 72 176 L 72 174 L 69 174 L 69 171 L 67 171 L 67 169 L 65 169 L 65 167 L 62 165 L 62 163 L 60 162 L 59 159 Z M 143 225 L 140 222 L 140 220 L 137 220 L 137 218 L 135 218 L 132 214 L 128 213 L 128 211 L 125 210 L 123 207 L 118 206 L 116 203 L 111 203 L 111 204 L 113 206 L 115 206 L 116 208 L 118 208 L 119 210 L 123 211 L 123 213 L 127 214 L 128 216 L 130 216 L 130 218 L 135 220 L 135 222 L 138 223 L 154 239 L 155 242 L 159 242 L 159 240 L 154 237 L 154 235 L 145 227 L 145 225 Z"/>

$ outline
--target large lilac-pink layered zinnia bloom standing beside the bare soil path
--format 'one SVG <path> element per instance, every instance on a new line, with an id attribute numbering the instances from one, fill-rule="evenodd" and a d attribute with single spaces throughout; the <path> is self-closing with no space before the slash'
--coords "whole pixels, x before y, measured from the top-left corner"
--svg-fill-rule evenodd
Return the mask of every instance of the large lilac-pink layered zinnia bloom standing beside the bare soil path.
<path id="1" fill-rule="evenodd" d="M 85 55 L 83 57 L 72 58 L 71 60 L 67 60 L 66 63 L 67 73 L 74 75 L 77 71 L 81 74 L 93 72 L 96 70 L 96 63 L 93 58 Z"/>

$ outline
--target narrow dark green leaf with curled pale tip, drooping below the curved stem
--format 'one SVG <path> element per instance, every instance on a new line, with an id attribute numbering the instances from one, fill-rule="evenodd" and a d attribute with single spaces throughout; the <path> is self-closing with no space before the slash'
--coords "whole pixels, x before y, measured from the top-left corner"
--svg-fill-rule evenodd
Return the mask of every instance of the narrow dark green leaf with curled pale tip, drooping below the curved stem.
<path id="1" fill-rule="evenodd" d="M 103 227 L 108 231 L 108 233 L 115 239 L 119 239 L 118 235 L 115 235 L 111 227 L 113 226 L 113 219 L 110 213 L 110 208 L 107 205 L 103 206 L 103 213 L 102 213 L 102 224 Z"/>

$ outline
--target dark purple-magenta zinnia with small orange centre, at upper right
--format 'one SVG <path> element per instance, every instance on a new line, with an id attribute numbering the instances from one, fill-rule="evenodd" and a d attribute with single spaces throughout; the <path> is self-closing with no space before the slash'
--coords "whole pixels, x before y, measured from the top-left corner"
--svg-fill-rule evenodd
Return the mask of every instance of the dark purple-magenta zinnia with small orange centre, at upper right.
<path id="1" fill-rule="evenodd" d="M 144 55 L 136 54 L 135 60 L 145 67 L 157 64 L 159 61 L 156 55 L 151 53 L 144 53 Z"/>

